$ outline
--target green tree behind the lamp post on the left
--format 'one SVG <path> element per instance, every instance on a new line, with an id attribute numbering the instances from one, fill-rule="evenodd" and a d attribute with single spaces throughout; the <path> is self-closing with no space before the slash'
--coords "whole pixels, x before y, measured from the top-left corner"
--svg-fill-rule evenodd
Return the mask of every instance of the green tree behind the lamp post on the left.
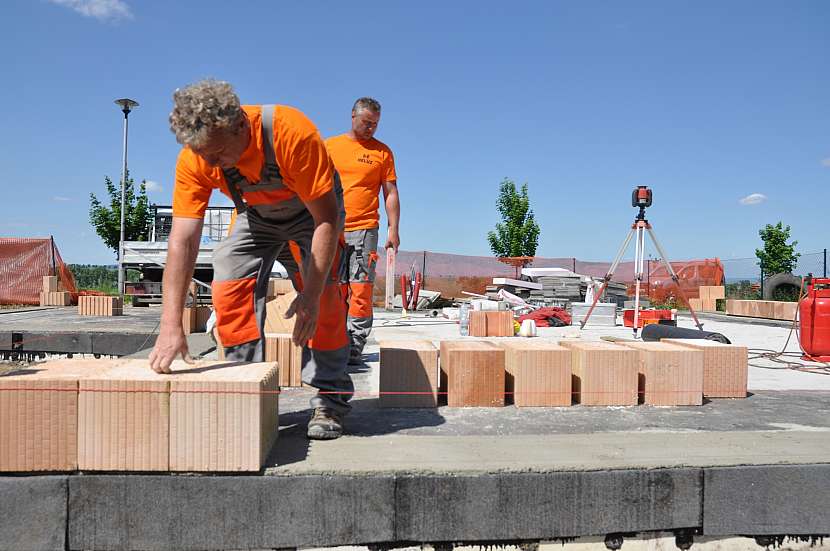
<path id="1" fill-rule="evenodd" d="M 121 238 L 121 186 L 104 177 L 109 194 L 109 207 L 104 206 L 94 193 L 89 194 L 89 221 L 104 243 L 118 256 L 118 241 Z M 146 182 L 142 181 L 136 194 L 135 183 L 127 175 L 124 187 L 124 240 L 147 241 L 152 224 L 150 204 L 147 200 Z"/>

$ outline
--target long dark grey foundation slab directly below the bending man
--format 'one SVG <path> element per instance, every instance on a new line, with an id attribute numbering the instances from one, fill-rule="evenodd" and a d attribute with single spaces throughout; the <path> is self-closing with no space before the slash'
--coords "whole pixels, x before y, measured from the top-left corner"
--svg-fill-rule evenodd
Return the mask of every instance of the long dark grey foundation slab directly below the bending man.
<path id="1" fill-rule="evenodd" d="M 395 539 L 389 476 L 79 476 L 69 496 L 69 549 L 272 549 Z"/>

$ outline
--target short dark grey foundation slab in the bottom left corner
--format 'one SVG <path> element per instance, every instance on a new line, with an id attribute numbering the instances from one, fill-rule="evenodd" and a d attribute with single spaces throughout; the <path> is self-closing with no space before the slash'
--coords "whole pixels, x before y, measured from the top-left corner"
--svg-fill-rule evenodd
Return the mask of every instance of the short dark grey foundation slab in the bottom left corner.
<path id="1" fill-rule="evenodd" d="M 0 549 L 62 551 L 65 476 L 0 477 Z"/>

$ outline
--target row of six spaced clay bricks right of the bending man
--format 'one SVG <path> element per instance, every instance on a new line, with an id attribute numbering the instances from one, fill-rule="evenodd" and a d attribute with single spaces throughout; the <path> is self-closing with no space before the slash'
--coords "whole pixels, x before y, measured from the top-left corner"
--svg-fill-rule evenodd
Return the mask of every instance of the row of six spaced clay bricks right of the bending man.
<path id="1" fill-rule="evenodd" d="M 381 407 L 700 405 L 744 398 L 747 349 L 698 339 L 385 341 Z"/>

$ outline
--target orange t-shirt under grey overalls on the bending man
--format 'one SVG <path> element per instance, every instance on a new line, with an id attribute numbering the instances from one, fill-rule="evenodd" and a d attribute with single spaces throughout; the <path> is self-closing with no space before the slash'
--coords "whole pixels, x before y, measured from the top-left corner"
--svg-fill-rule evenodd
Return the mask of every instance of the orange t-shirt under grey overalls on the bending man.
<path id="1" fill-rule="evenodd" d="M 243 105 L 248 117 L 251 141 L 236 163 L 249 182 L 259 182 L 265 152 L 262 146 L 262 108 Z M 334 188 L 334 165 L 317 127 L 297 109 L 285 105 L 274 108 L 274 153 L 288 190 L 245 193 L 250 205 L 276 203 L 296 194 L 303 202 L 319 199 Z M 182 148 L 176 162 L 173 190 L 173 216 L 202 218 L 214 189 L 230 197 L 225 175 L 212 167 L 189 147 Z"/>

